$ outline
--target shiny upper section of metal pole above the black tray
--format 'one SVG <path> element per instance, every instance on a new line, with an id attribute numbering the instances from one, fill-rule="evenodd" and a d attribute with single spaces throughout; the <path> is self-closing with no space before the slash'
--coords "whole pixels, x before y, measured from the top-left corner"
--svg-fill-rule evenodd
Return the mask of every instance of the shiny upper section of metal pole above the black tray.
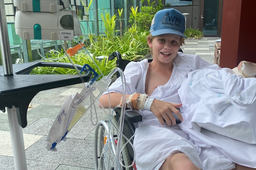
<path id="1" fill-rule="evenodd" d="M 0 18 L 0 48 L 3 60 L 4 75 L 13 75 L 4 0 L 0 0 Z"/>

